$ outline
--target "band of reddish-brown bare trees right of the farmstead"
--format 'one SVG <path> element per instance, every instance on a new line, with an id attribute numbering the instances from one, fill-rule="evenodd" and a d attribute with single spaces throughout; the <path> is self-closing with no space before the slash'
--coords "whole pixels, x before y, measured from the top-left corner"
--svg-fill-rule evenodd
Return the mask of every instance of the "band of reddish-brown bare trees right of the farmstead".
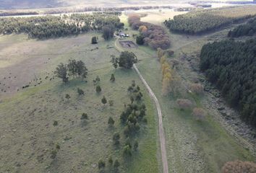
<path id="1" fill-rule="evenodd" d="M 170 47 L 171 40 L 163 27 L 148 22 L 141 22 L 140 16 L 137 14 L 130 15 L 128 22 L 133 30 L 140 31 L 140 35 L 137 36 L 137 43 L 139 45 L 149 45 L 153 49 L 167 49 Z"/>

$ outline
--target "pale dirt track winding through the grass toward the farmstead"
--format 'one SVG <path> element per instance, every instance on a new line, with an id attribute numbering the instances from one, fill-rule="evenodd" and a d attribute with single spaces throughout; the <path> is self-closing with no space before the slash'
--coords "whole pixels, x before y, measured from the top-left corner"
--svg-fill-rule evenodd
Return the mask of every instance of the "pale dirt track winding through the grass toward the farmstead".
<path id="1" fill-rule="evenodd" d="M 115 41 L 116 50 L 121 52 L 121 51 L 123 51 L 123 49 L 117 45 L 117 41 L 118 41 L 118 39 L 116 39 L 116 41 Z M 133 68 L 135 69 L 137 74 L 140 76 L 140 79 L 142 80 L 143 84 L 147 87 L 150 97 L 154 100 L 156 109 L 158 110 L 158 131 L 159 131 L 159 139 L 160 139 L 161 158 L 162 158 L 162 163 L 163 163 L 163 173 L 168 173 L 168 161 L 167 161 L 167 156 L 166 156 L 166 138 L 165 138 L 165 134 L 164 134 L 164 130 L 163 130 L 161 107 L 158 102 L 158 99 L 155 97 L 154 92 L 152 91 L 152 89 L 150 89 L 150 86 L 148 85 L 147 81 L 145 81 L 143 76 L 140 74 L 140 71 L 135 64 L 133 65 Z"/>

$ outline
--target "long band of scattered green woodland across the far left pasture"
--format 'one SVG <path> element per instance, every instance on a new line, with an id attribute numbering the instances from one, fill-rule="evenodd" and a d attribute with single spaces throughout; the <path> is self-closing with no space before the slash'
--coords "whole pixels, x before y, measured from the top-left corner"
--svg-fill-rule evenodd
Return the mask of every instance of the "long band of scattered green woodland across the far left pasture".
<path id="1" fill-rule="evenodd" d="M 99 31 L 105 25 L 124 26 L 112 14 L 71 14 L 44 17 L 7 17 L 0 19 L 0 34 L 27 33 L 30 38 L 46 39 Z"/>

